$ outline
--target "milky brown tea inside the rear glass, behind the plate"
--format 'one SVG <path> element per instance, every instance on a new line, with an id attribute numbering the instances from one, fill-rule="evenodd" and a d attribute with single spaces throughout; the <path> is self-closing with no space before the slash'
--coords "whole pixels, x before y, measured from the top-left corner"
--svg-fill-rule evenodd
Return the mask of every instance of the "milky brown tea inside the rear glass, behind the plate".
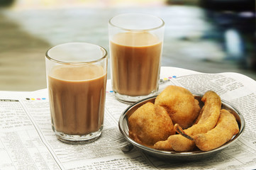
<path id="1" fill-rule="evenodd" d="M 146 96 L 158 89 L 162 41 L 152 33 L 118 33 L 110 41 L 113 91 Z"/>

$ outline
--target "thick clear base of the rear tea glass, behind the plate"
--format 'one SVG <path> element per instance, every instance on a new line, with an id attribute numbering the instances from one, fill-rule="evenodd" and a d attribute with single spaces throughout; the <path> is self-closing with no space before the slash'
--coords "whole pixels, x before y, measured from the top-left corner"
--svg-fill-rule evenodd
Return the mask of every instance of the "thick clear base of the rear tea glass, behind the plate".
<path id="1" fill-rule="evenodd" d="M 151 94 L 146 95 L 146 96 L 126 96 L 123 94 L 118 94 L 116 91 L 114 91 L 114 93 L 115 93 L 116 99 L 118 101 L 121 101 L 123 103 L 128 103 L 128 104 L 133 104 L 135 102 L 143 100 L 144 98 L 149 98 L 149 97 L 157 95 L 157 91 L 152 91 Z"/>

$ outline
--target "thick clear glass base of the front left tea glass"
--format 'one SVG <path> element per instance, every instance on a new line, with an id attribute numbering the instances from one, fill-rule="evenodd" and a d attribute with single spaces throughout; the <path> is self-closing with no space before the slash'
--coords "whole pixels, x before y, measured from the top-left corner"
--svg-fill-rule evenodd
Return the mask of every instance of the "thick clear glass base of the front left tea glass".
<path id="1" fill-rule="evenodd" d="M 67 144 L 87 144 L 90 142 L 94 142 L 101 136 L 102 129 L 103 129 L 103 126 L 101 126 L 101 128 L 98 131 L 91 132 L 87 135 L 67 135 L 63 132 L 58 132 L 52 126 L 52 130 L 55 132 L 57 139 Z"/>

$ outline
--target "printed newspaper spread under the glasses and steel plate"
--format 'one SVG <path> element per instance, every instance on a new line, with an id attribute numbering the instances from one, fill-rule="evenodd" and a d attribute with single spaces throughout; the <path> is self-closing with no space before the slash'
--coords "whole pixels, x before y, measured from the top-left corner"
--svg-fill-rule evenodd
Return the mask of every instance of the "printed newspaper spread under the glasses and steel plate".
<path id="1" fill-rule="evenodd" d="M 104 130 L 86 145 L 60 142 L 51 129 L 48 89 L 0 91 L 0 169 L 256 169 L 256 81 L 238 73 L 204 74 L 161 67 L 160 91 L 183 86 L 194 94 L 216 91 L 245 118 L 245 132 L 209 159 L 169 162 L 138 152 L 118 130 L 128 104 L 116 100 L 108 80 Z"/>

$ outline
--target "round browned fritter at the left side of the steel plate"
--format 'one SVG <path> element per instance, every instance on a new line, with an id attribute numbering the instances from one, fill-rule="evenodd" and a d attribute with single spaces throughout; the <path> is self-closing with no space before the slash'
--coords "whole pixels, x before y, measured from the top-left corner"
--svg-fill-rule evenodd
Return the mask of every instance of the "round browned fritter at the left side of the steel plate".
<path id="1" fill-rule="evenodd" d="M 129 137 L 142 145 L 152 147 L 155 142 L 167 140 L 175 133 L 167 111 L 153 103 L 140 106 L 128 118 Z"/>

